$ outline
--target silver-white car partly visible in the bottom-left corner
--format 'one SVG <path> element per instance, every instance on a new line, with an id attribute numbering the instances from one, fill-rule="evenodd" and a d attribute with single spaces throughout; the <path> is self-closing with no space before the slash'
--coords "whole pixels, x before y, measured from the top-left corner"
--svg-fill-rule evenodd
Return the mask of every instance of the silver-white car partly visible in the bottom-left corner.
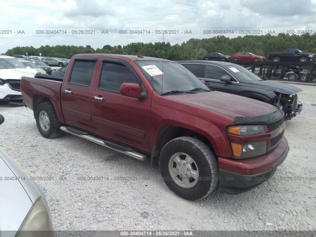
<path id="1" fill-rule="evenodd" d="M 0 124 L 3 121 L 0 115 Z M 48 205 L 39 186 L 2 150 L 0 236 L 55 236 Z"/>

